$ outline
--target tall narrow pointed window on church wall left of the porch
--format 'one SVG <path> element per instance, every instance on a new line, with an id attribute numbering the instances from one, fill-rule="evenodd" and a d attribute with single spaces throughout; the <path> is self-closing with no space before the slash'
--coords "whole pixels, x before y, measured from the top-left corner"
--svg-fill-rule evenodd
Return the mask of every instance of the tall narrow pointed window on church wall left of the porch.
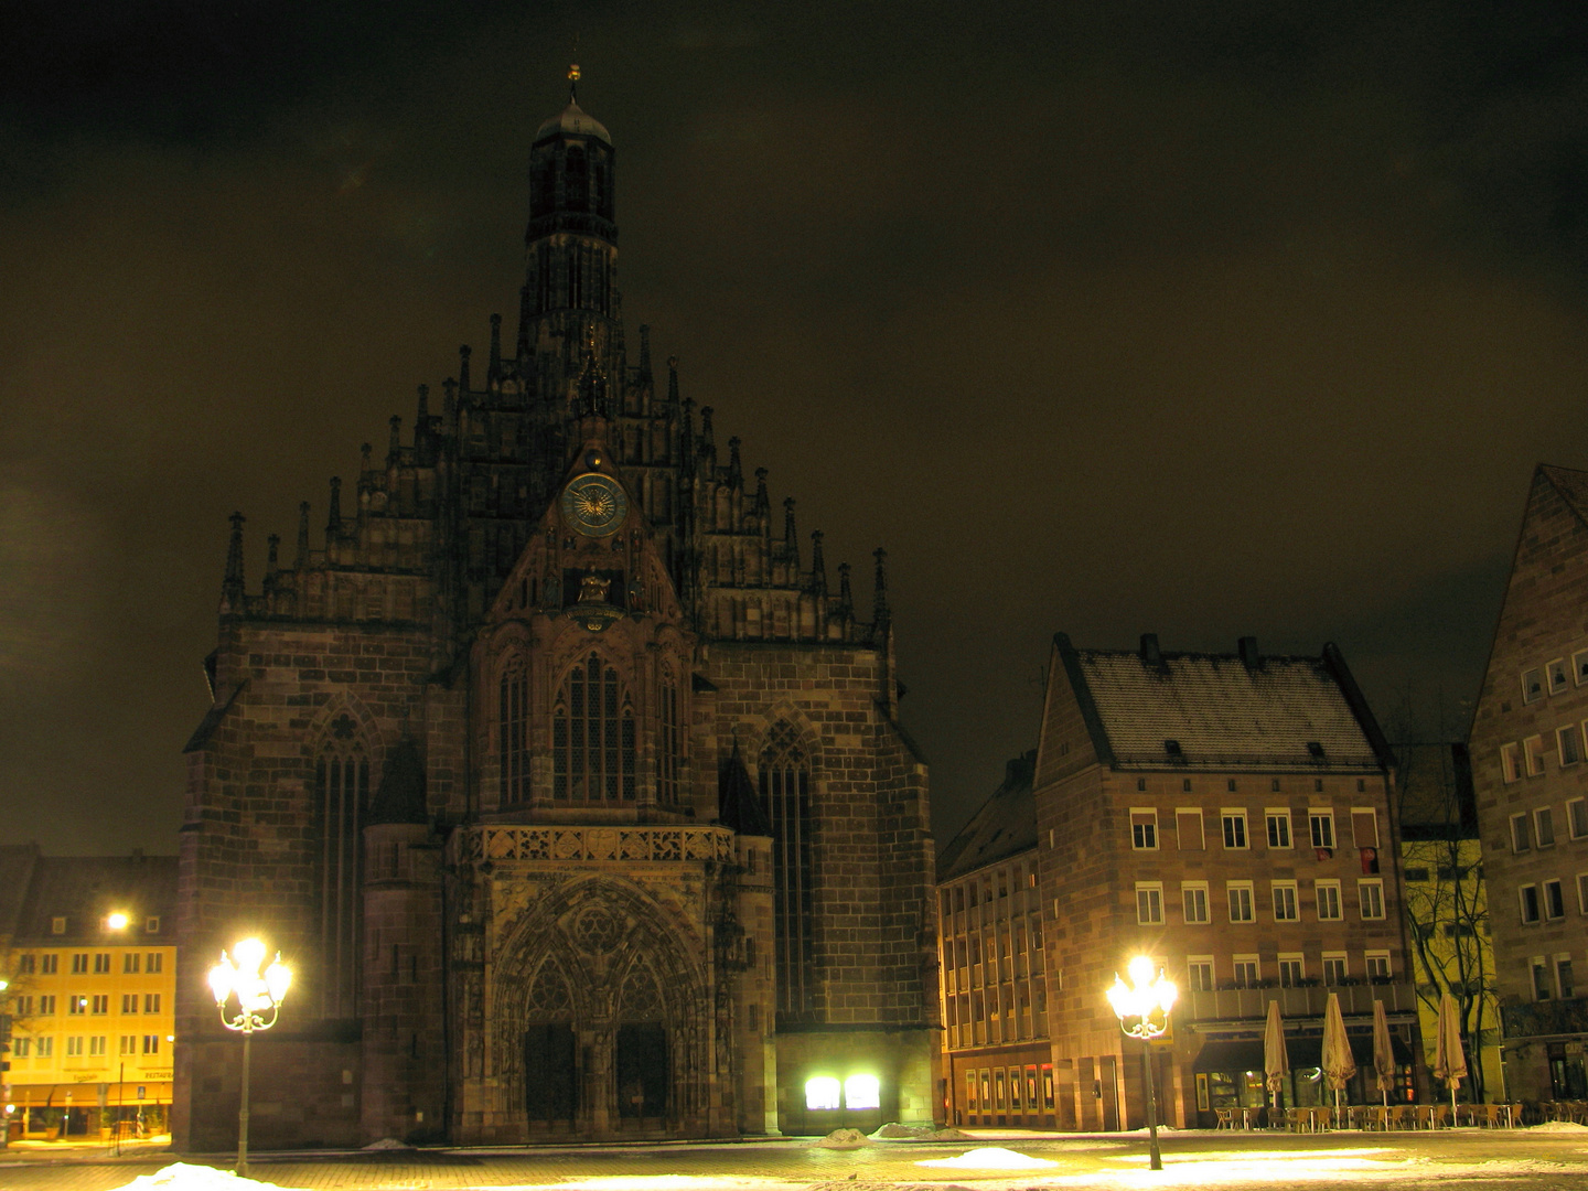
<path id="1" fill-rule="evenodd" d="M 330 724 L 314 762 L 316 829 L 319 835 L 319 970 L 321 1013 L 359 1013 L 360 831 L 370 802 L 370 754 L 357 724 L 343 713 Z"/>

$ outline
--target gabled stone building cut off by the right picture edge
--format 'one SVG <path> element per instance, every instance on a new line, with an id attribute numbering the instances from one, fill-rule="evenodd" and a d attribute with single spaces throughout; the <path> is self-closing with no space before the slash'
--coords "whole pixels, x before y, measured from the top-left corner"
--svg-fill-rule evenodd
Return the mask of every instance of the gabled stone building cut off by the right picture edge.
<path id="1" fill-rule="evenodd" d="M 1532 473 L 1469 738 L 1512 1097 L 1588 1096 L 1588 472 Z"/>

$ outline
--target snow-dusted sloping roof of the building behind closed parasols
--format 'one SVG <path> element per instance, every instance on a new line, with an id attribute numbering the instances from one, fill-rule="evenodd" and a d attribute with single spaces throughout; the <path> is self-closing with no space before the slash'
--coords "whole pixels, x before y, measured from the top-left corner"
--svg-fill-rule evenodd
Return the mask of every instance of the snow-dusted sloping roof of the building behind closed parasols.
<path id="1" fill-rule="evenodd" d="M 1250 638 L 1248 638 L 1250 640 Z M 1388 745 L 1340 651 L 1077 649 L 1054 638 L 1097 754 L 1120 769 L 1385 769 Z M 1245 649 L 1245 646 L 1243 646 Z"/>

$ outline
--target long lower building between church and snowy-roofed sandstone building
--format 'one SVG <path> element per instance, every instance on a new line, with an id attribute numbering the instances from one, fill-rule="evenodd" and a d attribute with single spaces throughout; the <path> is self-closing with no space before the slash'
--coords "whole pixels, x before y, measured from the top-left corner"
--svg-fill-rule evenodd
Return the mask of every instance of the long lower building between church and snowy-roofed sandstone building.
<path id="1" fill-rule="evenodd" d="M 1054 1127 L 1048 991 L 1037 891 L 1037 754 L 937 858 L 943 1077 L 956 1124 Z"/>

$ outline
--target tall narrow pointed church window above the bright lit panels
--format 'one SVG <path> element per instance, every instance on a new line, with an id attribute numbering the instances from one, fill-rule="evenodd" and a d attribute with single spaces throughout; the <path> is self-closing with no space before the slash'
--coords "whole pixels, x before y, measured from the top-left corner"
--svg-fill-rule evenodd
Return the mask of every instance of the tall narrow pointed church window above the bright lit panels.
<path id="1" fill-rule="evenodd" d="M 761 751 L 761 805 L 772 823 L 772 926 L 777 946 L 778 1012 L 810 1008 L 815 989 L 815 897 L 811 858 L 815 823 L 810 759 L 789 723 L 767 734 Z"/>

